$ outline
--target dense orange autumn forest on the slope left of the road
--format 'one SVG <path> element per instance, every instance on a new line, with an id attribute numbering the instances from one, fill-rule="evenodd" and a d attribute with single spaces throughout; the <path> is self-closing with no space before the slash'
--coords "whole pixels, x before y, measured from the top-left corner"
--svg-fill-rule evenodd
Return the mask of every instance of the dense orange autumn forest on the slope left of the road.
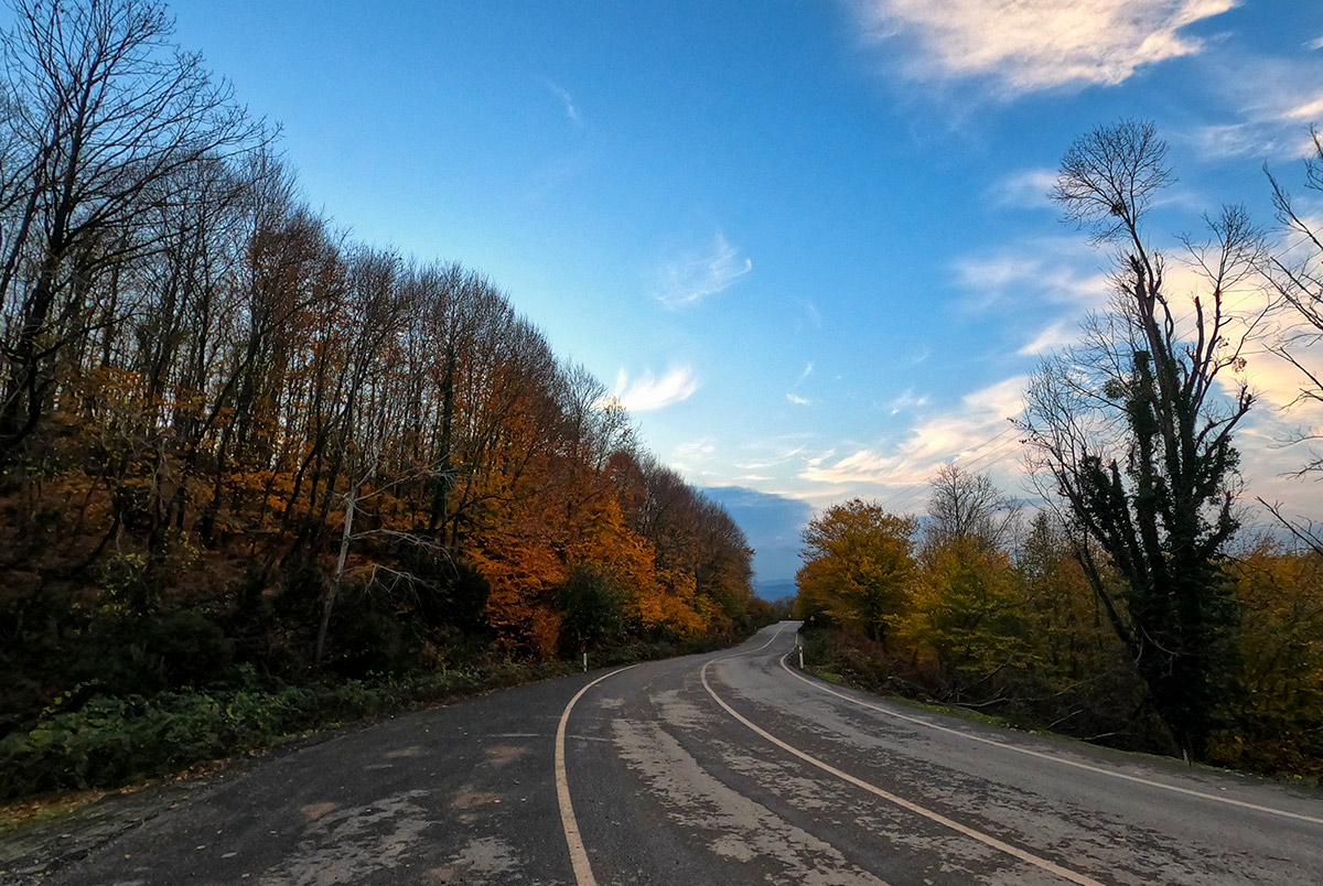
<path id="1" fill-rule="evenodd" d="M 4 36 L 0 792 L 306 726 L 267 704 L 300 686 L 767 618 L 741 530 L 597 378 L 482 274 L 310 209 L 171 29 L 22 0 Z M 185 714 L 209 742 L 169 750 Z"/>

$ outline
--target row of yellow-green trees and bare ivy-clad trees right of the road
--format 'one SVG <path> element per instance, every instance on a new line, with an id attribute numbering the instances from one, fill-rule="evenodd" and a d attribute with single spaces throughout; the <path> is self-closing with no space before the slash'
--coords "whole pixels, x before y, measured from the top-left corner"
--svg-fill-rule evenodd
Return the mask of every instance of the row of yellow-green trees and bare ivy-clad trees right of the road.
<path id="1" fill-rule="evenodd" d="M 1172 181 L 1151 123 L 1070 147 L 1052 196 L 1111 250 L 1114 298 L 1043 361 L 1015 419 L 1039 509 L 959 463 L 937 471 L 921 518 L 859 499 L 827 509 L 798 575 L 810 657 L 1027 727 L 1316 779 L 1323 540 L 1256 501 L 1236 434 L 1271 409 L 1252 361 L 1283 361 L 1298 406 L 1323 402 L 1323 238 L 1270 179 L 1285 246 L 1228 206 L 1164 255 L 1148 222 Z M 1193 292 L 1170 283 L 1176 267 Z M 1315 481 L 1323 463 L 1302 460 L 1295 476 Z"/>

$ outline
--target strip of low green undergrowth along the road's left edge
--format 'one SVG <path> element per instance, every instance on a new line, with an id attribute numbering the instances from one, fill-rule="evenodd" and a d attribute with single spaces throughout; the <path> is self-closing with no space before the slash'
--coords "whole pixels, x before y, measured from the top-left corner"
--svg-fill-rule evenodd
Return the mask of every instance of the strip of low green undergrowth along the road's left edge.
<path id="1" fill-rule="evenodd" d="M 709 652 L 740 640 L 632 643 L 590 656 L 589 664 L 595 669 Z M 56 705 L 30 729 L 0 738 L 0 834 L 111 792 L 210 772 L 324 730 L 579 670 L 577 661 L 496 661 L 406 677 L 95 696 L 70 710 Z"/>

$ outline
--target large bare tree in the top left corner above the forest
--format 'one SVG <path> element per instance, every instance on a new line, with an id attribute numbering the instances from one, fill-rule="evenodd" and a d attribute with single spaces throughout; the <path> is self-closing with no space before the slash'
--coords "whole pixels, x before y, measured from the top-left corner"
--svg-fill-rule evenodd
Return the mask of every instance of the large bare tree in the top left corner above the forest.
<path id="1" fill-rule="evenodd" d="M 46 409 L 90 280 L 161 246 L 140 223 L 179 173 L 261 139 L 155 0 L 17 0 L 3 36 L 0 462 Z"/>

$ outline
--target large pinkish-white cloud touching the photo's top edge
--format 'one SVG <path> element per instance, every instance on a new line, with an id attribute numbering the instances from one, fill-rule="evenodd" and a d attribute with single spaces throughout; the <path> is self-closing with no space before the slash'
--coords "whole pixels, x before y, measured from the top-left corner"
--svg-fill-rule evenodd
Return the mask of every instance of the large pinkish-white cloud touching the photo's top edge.
<path id="1" fill-rule="evenodd" d="M 1181 29 L 1237 0 L 859 0 L 869 37 L 906 40 L 919 79 L 994 81 L 1012 95 L 1117 85 L 1197 53 Z"/>

